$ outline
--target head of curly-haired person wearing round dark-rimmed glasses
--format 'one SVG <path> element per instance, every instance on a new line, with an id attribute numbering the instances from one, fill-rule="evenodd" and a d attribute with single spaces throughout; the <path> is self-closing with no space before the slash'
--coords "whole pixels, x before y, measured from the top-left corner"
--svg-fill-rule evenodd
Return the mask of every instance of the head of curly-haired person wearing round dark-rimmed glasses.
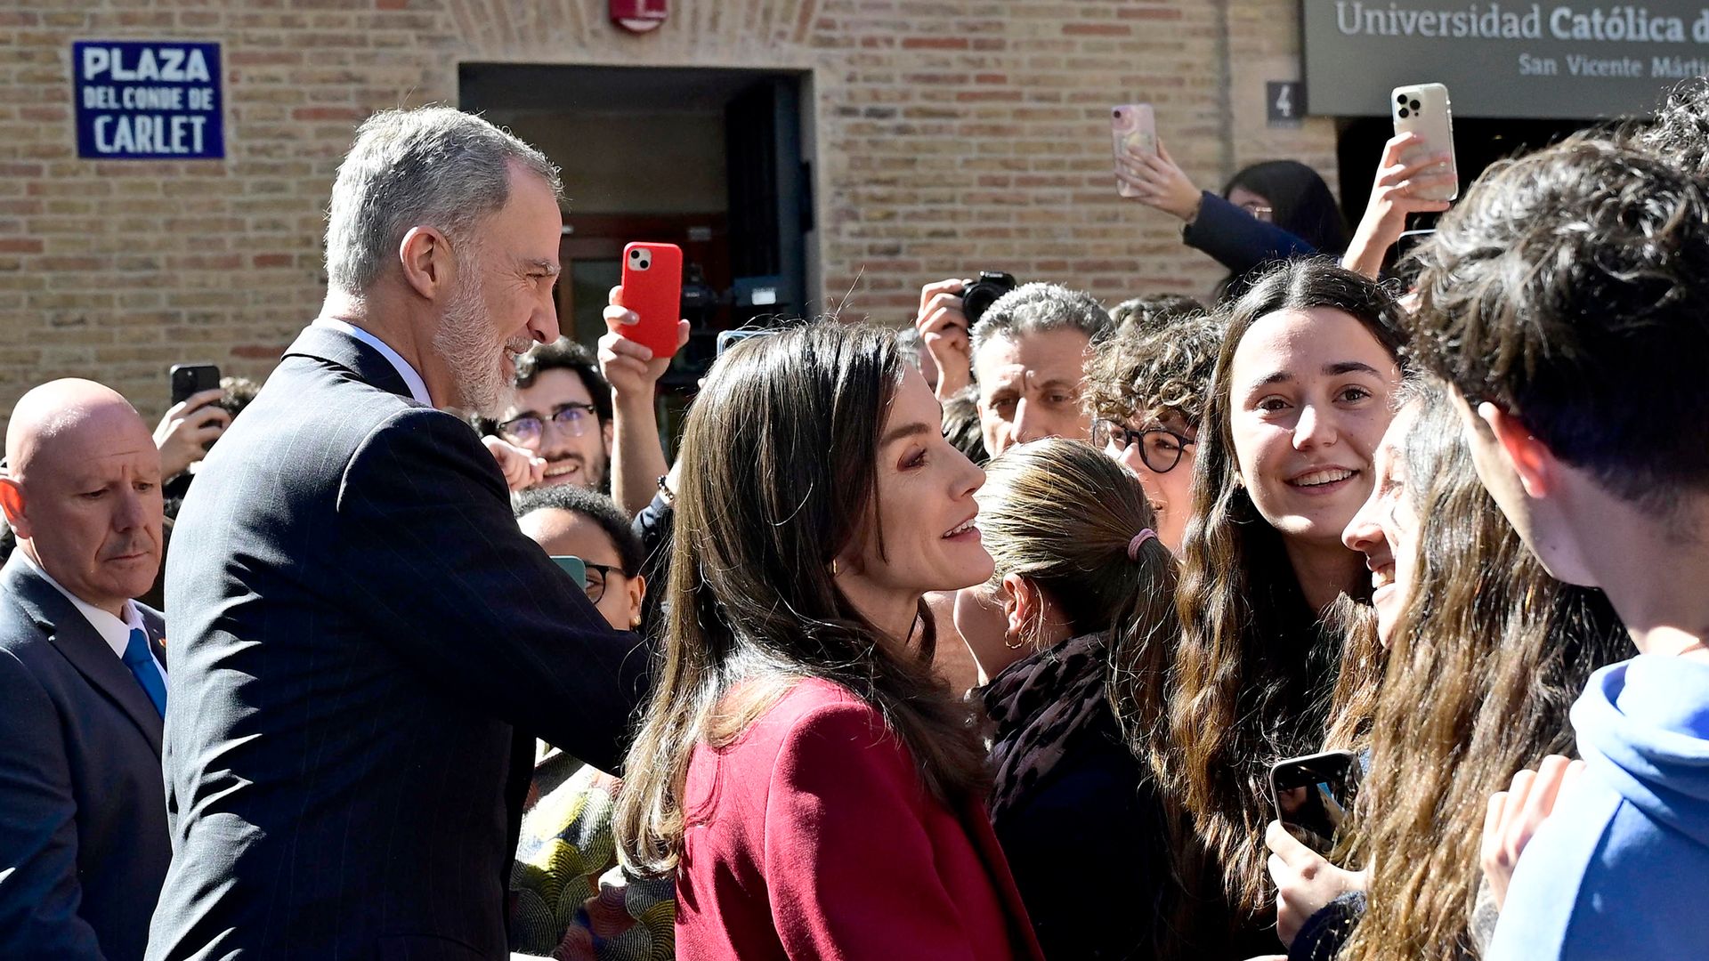
<path id="1" fill-rule="evenodd" d="M 1092 441 L 1140 475 L 1157 539 L 1181 551 L 1193 515 L 1193 451 L 1222 325 L 1188 316 L 1150 333 L 1123 328 L 1087 369 Z"/>

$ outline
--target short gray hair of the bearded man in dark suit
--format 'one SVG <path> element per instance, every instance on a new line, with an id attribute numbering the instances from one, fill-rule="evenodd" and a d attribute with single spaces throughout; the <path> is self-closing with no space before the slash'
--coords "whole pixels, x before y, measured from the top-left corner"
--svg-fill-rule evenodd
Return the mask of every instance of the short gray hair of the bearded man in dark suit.
<path id="1" fill-rule="evenodd" d="M 332 186 L 328 284 L 366 292 L 412 227 L 470 236 L 477 221 L 509 200 L 513 162 L 561 195 L 562 181 L 545 154 L 479 116 L 448 106 L 369 116 Z"/>

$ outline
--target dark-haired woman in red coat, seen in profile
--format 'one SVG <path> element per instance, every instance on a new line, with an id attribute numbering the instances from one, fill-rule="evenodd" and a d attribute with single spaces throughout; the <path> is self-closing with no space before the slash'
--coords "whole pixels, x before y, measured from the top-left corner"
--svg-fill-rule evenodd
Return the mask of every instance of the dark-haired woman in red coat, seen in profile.
<path id="1" fill-rule="evenodd" d="M 928 590 L 983 581 L 984 474 L 889 332 L 713 369 L 682 445 L 665 665 L 615 814 L 696 961 L 1039 958 L 931 672 Z"/>

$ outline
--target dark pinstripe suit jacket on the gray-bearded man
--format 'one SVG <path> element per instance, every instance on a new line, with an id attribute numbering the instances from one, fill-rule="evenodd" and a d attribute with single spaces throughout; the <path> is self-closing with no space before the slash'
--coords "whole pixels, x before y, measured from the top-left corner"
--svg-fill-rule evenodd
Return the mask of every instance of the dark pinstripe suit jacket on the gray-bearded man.
<path id="1" fill-rule="evenodd" d="M 166 585 L 149 958 L 502 958 L 513 725 L 614 769 L 646 665 L 468 424 L 309 327 L 203 462 Z"/>

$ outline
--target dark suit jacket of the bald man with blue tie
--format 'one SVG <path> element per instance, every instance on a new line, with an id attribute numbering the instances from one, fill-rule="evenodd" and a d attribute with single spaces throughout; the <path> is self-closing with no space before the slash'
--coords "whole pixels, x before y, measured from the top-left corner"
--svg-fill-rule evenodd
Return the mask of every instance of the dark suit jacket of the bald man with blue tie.
<path id="1" fill-rule="evenodd" d="M 161 657 L 161 616 L 137 607 Z M 171 857 L 161 715 L 14 552 L 0 569 L 0 958 L 142 958 Z"/>

